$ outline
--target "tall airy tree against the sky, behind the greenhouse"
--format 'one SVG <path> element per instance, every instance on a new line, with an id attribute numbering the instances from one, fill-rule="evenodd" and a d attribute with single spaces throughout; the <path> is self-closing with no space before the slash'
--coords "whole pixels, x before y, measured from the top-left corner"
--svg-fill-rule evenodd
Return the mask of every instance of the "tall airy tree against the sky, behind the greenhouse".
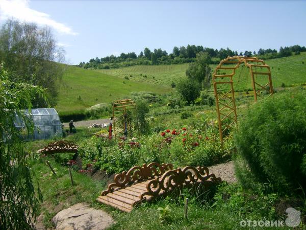
<path id="1" fill-rule="evenodd" d="M 63 75 L 64 51 L 57 47 L 52 31 L 17 20 L 7 20 L 0 30 L 0 62 L 11 72 L 10 80 L 46 88 L 46 96 L 54 106 L 58 95 L 58 80 Z M 34 97 L 35 107 L 45 100 Z"/>

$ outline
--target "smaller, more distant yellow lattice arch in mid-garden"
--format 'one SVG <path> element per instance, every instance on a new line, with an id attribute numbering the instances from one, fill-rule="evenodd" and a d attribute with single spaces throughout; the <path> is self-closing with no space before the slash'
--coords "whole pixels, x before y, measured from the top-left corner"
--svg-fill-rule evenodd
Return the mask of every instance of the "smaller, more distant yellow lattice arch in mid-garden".
<path id="1" fill-rule="evenodd" d="M 124 99 L 115 101 L 113 104 L 113 130 L 115 140 L 119 140 L 121 137 L 132 136 L 131 130 L 133 130 L 132 118 L 128 119 L 129 111 L 136 108 L 136 104 L 132 99 Z M 119 116 L 116 116 L 116 112 L 119 112 Z M 125 127 L 126 125 L 126 127 Z M 126 130 L 130 130 L 127 133 Z"/>

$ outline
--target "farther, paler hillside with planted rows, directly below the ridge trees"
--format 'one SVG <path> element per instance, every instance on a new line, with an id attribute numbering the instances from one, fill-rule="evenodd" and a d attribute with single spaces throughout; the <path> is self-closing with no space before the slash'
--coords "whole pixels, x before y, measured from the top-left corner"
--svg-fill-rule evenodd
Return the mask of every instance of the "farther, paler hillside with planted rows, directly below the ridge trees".
<path id="1" fill-rule="evenodd" d="M 266 63 L 271 67 L 274 87 L 280 87 L 282 83 L 285 83 L 286 86 L 306 83 L 306 52 L 290 57 L 270 59 Z M 214 69 L 215 66 L 213 65 L 212 68 Z M 182 78 L 186 78 L 185 72 L 187 68 L 188 64 L 136 65 L 96 71 L 121 78 L 127 76 L 133 81 L 170 86 L 171 82 L 177 82 Z M 246 68 L 240 68 L 236 73 L 234 77 L 236 83 L 235 88 L 238 90 L 251 88 L 251 79 L 247 77 L 248 70 Z M 145 75 L 147 77 L 144 77 Z M 258 81 L 265 82 L 265 79 L 263 81 L 258 79 Z"/>

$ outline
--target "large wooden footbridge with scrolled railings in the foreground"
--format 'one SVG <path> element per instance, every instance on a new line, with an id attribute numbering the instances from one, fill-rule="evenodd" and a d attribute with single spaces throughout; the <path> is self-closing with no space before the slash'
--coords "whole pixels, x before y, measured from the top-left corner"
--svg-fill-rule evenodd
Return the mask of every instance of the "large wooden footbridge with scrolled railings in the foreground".
<path id="1" fill-rule="evenodd" d="M 171 164 L 150 163 L 116 174 L 114 180 L 97 200 L 121 211 L 131 212 L 137 204 L 166 196 L 175 188 L 201 185 L 207 189 L 213 183 L 220 182 L 221 178 L 209 174 L 207 167 L 187 166 L 173 170 Z"/>

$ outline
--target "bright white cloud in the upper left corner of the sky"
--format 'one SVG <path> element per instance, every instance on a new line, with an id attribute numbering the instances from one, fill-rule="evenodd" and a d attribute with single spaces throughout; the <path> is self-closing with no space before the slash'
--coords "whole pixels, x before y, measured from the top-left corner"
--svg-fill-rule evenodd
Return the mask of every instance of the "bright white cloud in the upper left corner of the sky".
<path id="1" fill-rule="evenodd" d="M 77 35 L 72 29 L 50 18 L 50 15 L 29 8 L 29 0 L 0 0 L 0 20 L 16 18 L 20 21 L 35 22 L 47 25 L 60 33 Z"/>

